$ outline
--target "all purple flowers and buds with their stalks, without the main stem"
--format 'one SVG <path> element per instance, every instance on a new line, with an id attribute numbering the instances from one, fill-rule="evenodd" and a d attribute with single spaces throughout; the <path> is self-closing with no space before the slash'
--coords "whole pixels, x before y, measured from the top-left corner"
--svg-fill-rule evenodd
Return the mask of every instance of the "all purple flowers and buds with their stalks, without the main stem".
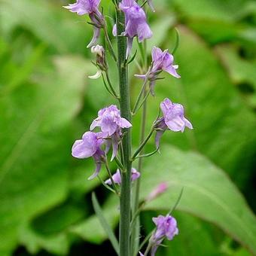
<path id="1" fill-rule="evenodd" d="M 147 22 L 144 4 L 148 3 L 151 11 L 154 11 L 154 6 L 151 0 L 144 2 L 143 5 L 139 5 L 139 1 L 135 0 L 112 0 L 112 2 L 118 11 L 123 11 L 125 20 L 125 29 L 120 35 L 118 35 L 117 32 L 117 24 L 113 26 L 112 32 L 116 37 L 126 37 L 126 59 L 129 59 L 131 50 L 133 48 L 133 39 L 138 38 L 139 43 L 142 43 L 145 41 L 145 39 L 151 38 L 153 35 Z M 108 50 L 113 58 L 117 60 L 111 45 L 111 41 L 108 38 L 105 17 L 102 12 L 99 11 L 99 4 L 100 0 L 77 0 L 75 4 L 70 4 L 65 6 L 65 8 L 67 8 L 69 11 L 77 13 L 78 15 L 88 14 L 90 17 L 90 24 L 93 25 L 93 38 L 87 47 L 90 47 L 92 53 L 96 54 L 96 62 L 94 62 L 94 64 L 98 68 L 96 75 L 93 75 L 90 78 L 96 79 L 102 77 L 108 92 L 114 96 L 115 99 L 119 99 L 119 96 L 115 92 L 110 78 L 108 77 L 108 61 L 106 58 L 105 49 L 101 45 L 97 44 L 99 41 L 100 32 L 103 30 L 108 43 Z M 159 47 L 153 47 L 151 56 L 152 62 L 151 66 L 148 68 L 148 72 L 146 72 L 145 75 L 136 75 L 136 77 L 144 81 L 142 93 L 148 90 L 148 92 L 154 96 L 154 87 L 157 80 L 159 80 L 159 75 L 161 72 L 167 72 L 174 78 L 181 78 L 181 76 L 178 75 L 178 65 L 174 64 L 174 57 L 168 52 L 168 50 L 161 50 Z M 144 100 L 147 100 L 147 98 Z M 139 111 L 138 106 L 140 104 L 143 105 L 142 94 L 138 97 L 136 103 L 137 105 L 134 108 L 133 114 L 136 114 L 136 111 Z M 160 110 L 162 111 L 163 115 L 161 117 L 157 117 L 151 130 L 151 134 L 155 132 L 156 151 L 158 151 L 160 148 L 160 138 L 163 136 L 163 133 L 166 132 L 166 130 L 183 133 L 185 127 L 193 129 L 190 121 L 184 117 L 183 105 L 173 103 L 170 99 L 166 98 L 160 103 Z M 117 105 L 110 105 L 99 110 L 98 117 L 96 117 L 96 119 L 94 119 L 90 125 L 90 131 L 84 133 L 82 138 L 76 140 L 72 146 L 73 157 L 79 159 L 93 157 L 93 160 L 96 163 L 96 169 L 89 179 L 99 177 L 102 164 L 104 164 L 109 175 L 109 178 L 104 182 L 105 186 L 109 188 L 116 185 L 121 186 L 123 172 L 123 129 L 130 129 L 131 127 L 132 123 L 130 120 L 126 120 L 125 118 L 121 117 L 120 110 L 117 108 Z M 138 154 L 140 156 L 146 142 L 144 144 L 142 143 L 139 151 L 136 151 L 137 154 L 134 155 L 135 158 L 133 158 L 132 161 L 136 160 L 136 156 Z M 108 151 L 110 150 L 112 152 L 111 161 L 116 160 L 117 166 L 119 167 L 117 172 L 115 172 L 113 175 L 111 175 L 108 168 Z M 131 181 L 136 181 L 138 178 L 140 178 L 140 176 L 140 172 L 134 168 L 131 169 Z M 167 188 L 168 184 L 159 184 L 159 186 L 148 195 L 144 203 L 154 200 L 160 194 L 163 194 Z M 120 193 L 119 190 L 116 190 L 115 192 L 117 194 Z M 153 218 L 153 221 L 156 228 L 149 239 L 148 248 L 145 251 L 145 255 L 148 254 L 149 251 L 151 251 L 151 255 L 154 255 L 164 238 L 172 240 L 173 237 L 178 234 L 177 222 L 171 215 L 159 215 L 157 218 Z M 143 255 L 142 252 L 139 252 L 139 254 Z"/>

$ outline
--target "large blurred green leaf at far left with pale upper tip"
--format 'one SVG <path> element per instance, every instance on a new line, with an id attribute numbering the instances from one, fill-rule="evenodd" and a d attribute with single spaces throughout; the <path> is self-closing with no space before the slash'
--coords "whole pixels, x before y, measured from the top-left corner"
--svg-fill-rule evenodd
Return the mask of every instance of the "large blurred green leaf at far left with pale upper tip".
<path id="1" fill-rule="evenodd" d="M 81 108 L 86 63 L 55 58 L 33 83 L 0 97 L 0 254 L 14 248 L 25 222 L 66 198 L 69 130 Z"/>

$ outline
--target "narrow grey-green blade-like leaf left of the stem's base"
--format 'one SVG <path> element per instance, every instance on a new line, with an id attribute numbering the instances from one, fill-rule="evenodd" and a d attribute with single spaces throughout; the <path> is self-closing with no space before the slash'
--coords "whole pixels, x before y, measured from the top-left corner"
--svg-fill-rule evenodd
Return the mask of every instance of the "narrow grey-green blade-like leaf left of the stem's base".
<path id="1" fill-rule="evenodd" d="M 119 254 L 119 245 L 117 242 L 117 239 L 114 235 L 113 230 L 111 230 L 111 227 L 108 224 L 108 221 L 106 221 L 104 214 L 102 212 L 102 209 L 99 206 L 99 202 L 96 198 L 95 193 L 92 194 L 92 200 L 93 200 L 93 209 L 96 212 L 97 218 L 99 218 L 99 222 L 102 225 L 103 229 L 105 230 L 105 233 L 108 234 L 108 239 L 110 240 L 114 251 L 116 251 L 117 255 Z"/>

